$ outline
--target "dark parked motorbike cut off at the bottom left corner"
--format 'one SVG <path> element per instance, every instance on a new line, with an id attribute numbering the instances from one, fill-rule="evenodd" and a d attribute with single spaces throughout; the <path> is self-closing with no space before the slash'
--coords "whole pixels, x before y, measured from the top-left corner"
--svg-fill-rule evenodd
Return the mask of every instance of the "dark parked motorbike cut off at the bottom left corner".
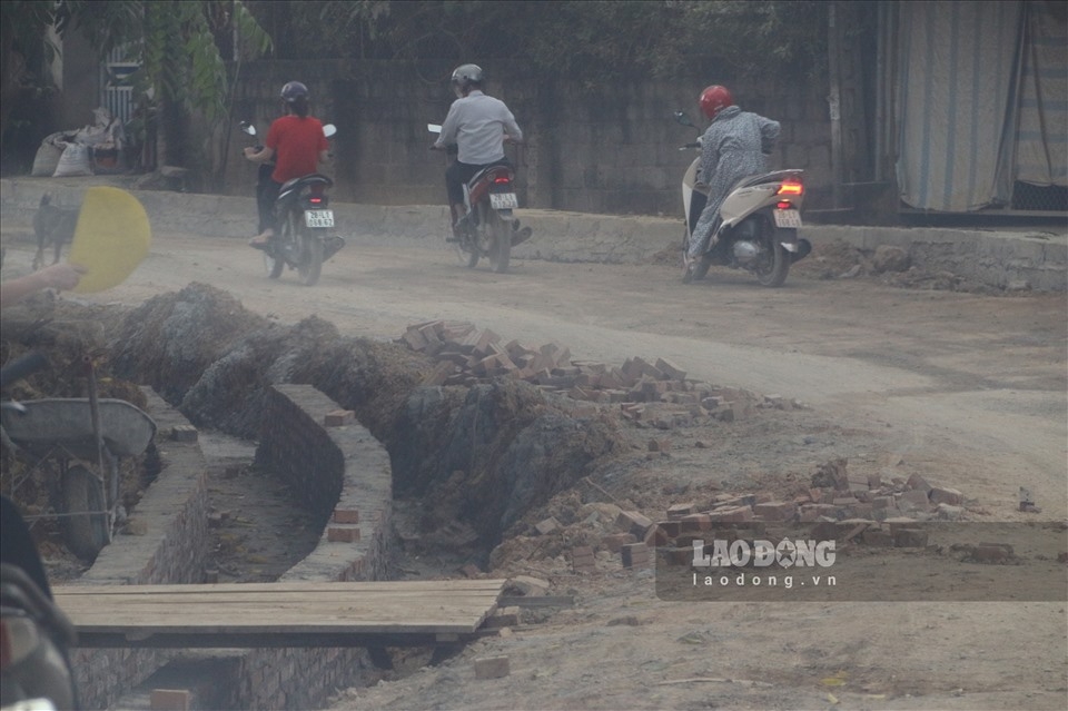
<path id="1" fill-rule="evenodd" d="M 40 367 L 22 358 L 0 369 L 6 387 Z M 2 403 L 18 415 L 21 404 Z M 0 497 L 0 711 L 78 709 L 78 689 L 69 651 L 73 625 L 52 601 L 40 554 L 18 506 Z"/>

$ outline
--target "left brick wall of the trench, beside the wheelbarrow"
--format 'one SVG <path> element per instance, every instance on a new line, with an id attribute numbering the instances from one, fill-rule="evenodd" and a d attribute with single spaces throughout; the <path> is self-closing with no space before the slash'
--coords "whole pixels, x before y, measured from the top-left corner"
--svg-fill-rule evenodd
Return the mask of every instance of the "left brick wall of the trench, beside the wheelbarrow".
<path id="1" fill-rule="evenodd" d="M 174 442 L 170 431 L 189 422 L 150 388 L 147 412 L 156 421 L 159 476 L 131 512 L 144 535 L 118 535 L 72 585 L 199 583 L 209 554 L 207 466 L 196 442 Z M 72 663 L 85 709 L 109 708 L 162 666 L 174 652 L 150 649 L 76 649 Z"/>

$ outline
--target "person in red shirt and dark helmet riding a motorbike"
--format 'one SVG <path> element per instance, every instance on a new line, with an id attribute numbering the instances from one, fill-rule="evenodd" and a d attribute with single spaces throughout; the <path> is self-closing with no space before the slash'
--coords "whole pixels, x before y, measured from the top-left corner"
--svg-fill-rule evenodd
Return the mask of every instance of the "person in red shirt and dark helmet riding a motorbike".
<path id="1" fill-rule="evenodd" d="M 329 145 L 323 132 L 323 122 L 308 116 L 308 88 L 299 81 L 284 86 L 281 100 L 287 115 L 270 125 L 263 150 L 257 151 L 251 147 L 245 149 L 245 157 L 253 162 L 275 160 L 270 178 L 261 179 L 256 187 L 260 234 L 248 244 L 257 249 L 265 248 L 277 233 L 275 200 L 283 184 L 313 174 L 318 170 L 318 164 L 329 160 Z"/>

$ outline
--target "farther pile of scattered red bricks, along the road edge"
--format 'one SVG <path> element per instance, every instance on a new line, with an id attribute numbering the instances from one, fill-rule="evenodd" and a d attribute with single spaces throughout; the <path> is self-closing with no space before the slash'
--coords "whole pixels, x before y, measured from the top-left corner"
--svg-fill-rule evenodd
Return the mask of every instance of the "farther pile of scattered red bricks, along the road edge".
<path id="1" fill-rule="evenodd" d="M 660 429 L 732 422 L 754 407 L 792 409 L 795 401 L 778 395 L 720 387 L 686 377 L 686 372 L 664 358 L 653 362 L 627 358 L 622 366 L 573 359 L 558 343 L 538 347 L 504 339 L 488 328 L 466 322 L 433 320 L 408 326 L 398 343 L 437 362 L 423 385 L 472 386 L 496 377 L 537 385 L 543 392 L 575 402 L 571 414 L 592 416 L 604 408 Z"/>

